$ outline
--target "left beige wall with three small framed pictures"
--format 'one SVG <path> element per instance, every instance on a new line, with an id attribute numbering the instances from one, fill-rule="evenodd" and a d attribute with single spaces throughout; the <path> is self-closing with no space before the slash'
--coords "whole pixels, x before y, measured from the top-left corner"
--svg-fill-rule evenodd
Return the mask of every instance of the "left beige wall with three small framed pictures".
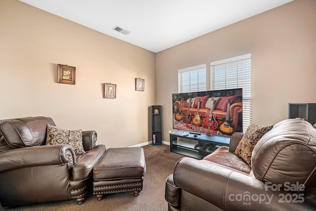
<path id="1" fill-rule="evenodd" d="M 17 0 L 0 0 L 0 119 L 48 116 L 57 126 L 94 129 L 109 147 L 151 140 L 155 53 Z M 57 84 L 57 64 L 76 85 Z M 135 91 L 135 78 L 145 91 Z M 103 98 L 103 83 L 117 98 Z"/>

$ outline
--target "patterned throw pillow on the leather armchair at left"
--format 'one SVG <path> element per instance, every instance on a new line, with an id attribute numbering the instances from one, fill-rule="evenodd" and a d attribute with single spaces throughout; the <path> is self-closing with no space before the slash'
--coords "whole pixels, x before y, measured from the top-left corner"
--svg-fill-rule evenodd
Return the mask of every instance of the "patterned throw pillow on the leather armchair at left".
<path id="1" fill-rule="evenodd" d="M 46 131 L 46 145 L 69 144 L 74 148 L 76 155 L 85 154 L 81 129 L 69 130 L 47 125 Z"/>

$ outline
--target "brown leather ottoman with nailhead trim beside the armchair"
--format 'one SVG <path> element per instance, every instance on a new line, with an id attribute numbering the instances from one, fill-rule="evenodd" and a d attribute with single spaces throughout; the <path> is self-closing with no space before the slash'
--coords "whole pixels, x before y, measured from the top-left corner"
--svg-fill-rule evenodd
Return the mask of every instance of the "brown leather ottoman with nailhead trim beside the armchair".
<path id="1" fill-rule="evenodd" d="M 143 148 L 109 148 L 93 169 L 93 195 L 102 200 L 104 194 L 134 191 L 138 196 L 145 173 Z"/>

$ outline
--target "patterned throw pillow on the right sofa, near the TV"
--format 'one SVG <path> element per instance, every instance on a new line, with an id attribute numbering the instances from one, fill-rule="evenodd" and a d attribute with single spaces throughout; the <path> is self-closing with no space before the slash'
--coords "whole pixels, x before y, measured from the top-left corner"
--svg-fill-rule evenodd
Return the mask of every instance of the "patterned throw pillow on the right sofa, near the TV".
<path id="1" fill-rule="evenodd" d="M 251 154 L 260 138 L 272 129 L 273 125 L 259 126 L 250 124 L 236 147 L 235 154 L 251 166 Z"/>

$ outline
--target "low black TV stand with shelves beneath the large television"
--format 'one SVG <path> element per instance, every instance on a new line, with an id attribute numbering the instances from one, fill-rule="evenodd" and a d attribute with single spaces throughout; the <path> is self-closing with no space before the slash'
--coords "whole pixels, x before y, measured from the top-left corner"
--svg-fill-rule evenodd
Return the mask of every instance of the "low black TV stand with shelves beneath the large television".
<path id="1" fill-rule="evenodd" d="M 229 146 L 230 136 L 189 133 L 178 130 L 170 133 L 170 152 L 202 159 L 220 146 Z"/>

